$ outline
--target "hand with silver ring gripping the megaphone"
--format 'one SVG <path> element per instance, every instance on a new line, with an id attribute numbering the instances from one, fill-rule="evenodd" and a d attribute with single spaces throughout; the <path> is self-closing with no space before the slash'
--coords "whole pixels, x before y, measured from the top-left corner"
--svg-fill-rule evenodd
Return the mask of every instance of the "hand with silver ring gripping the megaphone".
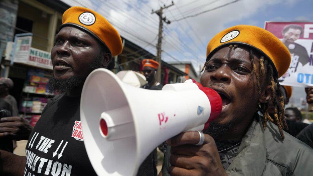
<path id="1" fill-rule="evenodd" d="M 196 146 L 194 144 L 199 141 L 198 132 L 187 131 L 166 141 L 171 146 L 171 166 L 168 168 L 171 176 L 227 175 L 214 139 L 208 134 L 204 134 L 204 138 L 203 145 Z"/>

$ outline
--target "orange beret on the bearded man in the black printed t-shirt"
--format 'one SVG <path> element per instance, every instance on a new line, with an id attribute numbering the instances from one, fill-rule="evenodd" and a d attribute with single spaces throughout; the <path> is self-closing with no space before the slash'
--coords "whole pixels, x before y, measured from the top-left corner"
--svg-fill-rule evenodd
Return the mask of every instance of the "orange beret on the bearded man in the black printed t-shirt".
<path id="1" fill-rule="evenodd" d="M 73 6 L 63 13 L 62 25 L 74 26 L 91 34 L 116 56 L 122 52 L 123 44 L 117 30 L 99 13 L 84 7 Z"/>

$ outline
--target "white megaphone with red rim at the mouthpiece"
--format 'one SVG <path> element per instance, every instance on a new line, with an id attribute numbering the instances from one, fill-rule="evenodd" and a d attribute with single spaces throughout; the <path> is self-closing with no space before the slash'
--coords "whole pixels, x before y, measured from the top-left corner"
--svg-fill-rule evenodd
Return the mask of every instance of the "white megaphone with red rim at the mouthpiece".
<path id="1" fill-rule="evenodd" d="M 146 90 L 99 68 L 89 74 L 81 94 L 85 148 L 98 175 L 136 175 L 159 144 L 183 131 L 202 131 L 221 109 L 218 93 L 200 83 Z"/>

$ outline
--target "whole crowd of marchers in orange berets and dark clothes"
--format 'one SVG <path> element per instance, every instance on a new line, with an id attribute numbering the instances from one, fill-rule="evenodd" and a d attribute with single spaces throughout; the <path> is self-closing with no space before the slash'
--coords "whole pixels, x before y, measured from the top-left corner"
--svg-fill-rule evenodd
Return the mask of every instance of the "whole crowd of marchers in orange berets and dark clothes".
<path id="1" fill-rule="evenodd" d="M 112 57 L 122 48 L 119 33 L 99 13 L 66 10 L 51 50 L 49 90 L 60 94 L 34 128 L 17 116 L 8 94 L 12 80 L 0 79 L 0 103 L 12 114 L 0 118 L 1 144 L 28 140 L 26 157 L 1 148 L 1 175 L 96 175 L 83 142 L 80 95 L 89 73 L 114 68 Z M 290 64 L 285 44 L 262 28 L 237 25 L 217 33 L 206 56 L 200 83 L 221 95 L 222 112 L 203 132 L 168 139 L 159 175 L 311 175 L 313 126 L 301 123 L 298 109 L 284 110 L 291 92 L 278 81 Z M 155 78 L 159 63 L 144 59 L 142 65 L 147 80 L 142 88 L 161 90 Z M 313 103 L 313 87 L 306 93 Z M 157 175 L 154 151 L 137 175 Z"/>

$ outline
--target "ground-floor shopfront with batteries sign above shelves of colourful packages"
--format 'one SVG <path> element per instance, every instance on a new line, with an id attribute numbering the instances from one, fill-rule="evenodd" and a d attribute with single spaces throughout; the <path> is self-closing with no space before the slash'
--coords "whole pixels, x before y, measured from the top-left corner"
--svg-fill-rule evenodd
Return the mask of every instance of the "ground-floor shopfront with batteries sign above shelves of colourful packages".
<path id="1" fill-rule="evenodd" d="M 26 36 L 15 38 L 11 66 L 6 69 L 9 69 L 8 77 L 15 83 L 10 94 L 18 102 L 19 114 L 35 125 L 48 99 L 54 96 L 49 93 L 47 85 L 52 75 L 51 55 L 31 47 L 31 33 L 23 35 Z"/>

